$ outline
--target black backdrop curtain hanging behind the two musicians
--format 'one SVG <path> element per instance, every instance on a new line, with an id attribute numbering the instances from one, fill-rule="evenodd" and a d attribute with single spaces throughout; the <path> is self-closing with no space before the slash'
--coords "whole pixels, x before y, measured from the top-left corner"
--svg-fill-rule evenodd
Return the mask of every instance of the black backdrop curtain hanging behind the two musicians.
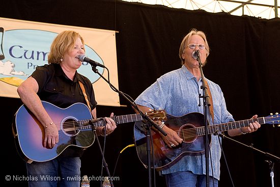
<path id="1" fill-rule="evenodd" d="M 39 21 L 55 24 L 85 26 L 116 30 L 119 90 L 135 99 L 155 82 L 160 75 L 181 67 L 178 57 L 182 38 L 191 28 L 206 33 L 210 45 L 208 64 L 204 74 L 218 85 L 226 98 L 228 110 L 235 120 L 245 120 L 254 114 L 259 117 L 279 112 L 280 93 L 280 20 L 232 16 L 227 13 L 189 11 L 164 6 L 126 3 L 121 1 L 2 1 L 0 17 Z M 1 26 L 1 23 L 0 23 Z M 110 55 L 110 54 L 108 54 Z M 98 88 L 95 88 L 98 89 Z M 24 162 L 18 156 L 11 123 L 22 104 L 20 99 L 0 98 L 3 106 L 2 157 L 8 164 L 4 175 L 26 175 Z M 133 114 L 127 107 L 97 106 L 97 116 Z M 133 123 L 119 125 L 106 139 L 105 159 L 113 175 L 119 152 L 133 144 Z M 264 152 L 280 156 L 279 128 L 263 125 L 257 132 L 234 137 L 244 144 L 254 144 Z M 278 136 L 277 136 L 278 135 Z M 100 138 L 103 145 L 103 139 Z M 223 149 L 235 186 L 270 186 L 268 158 L 228 140 Z M 81 173 L 100 176 L 101 155 L 96 142 L 82 156 Z M 280 165 L 274 166 L 274 185 L 280 186 Z M 103 173 L 105 170 L 103 170 Z M 148 186 L 148 173 L 139 161 L 135 147 L 128 148 L 119 157 L 115 186 Z M 3 177 L 4 178 L 4 177 Z M 165 186 L 163 177 L 156 172 L 157 186 Z M 4 180 L 15 185 L 26 181 Z M 91 185 L 98 185 L 91 181 Z M 231 180 L 221 158 L 219 186 L 231 186 Z"/>

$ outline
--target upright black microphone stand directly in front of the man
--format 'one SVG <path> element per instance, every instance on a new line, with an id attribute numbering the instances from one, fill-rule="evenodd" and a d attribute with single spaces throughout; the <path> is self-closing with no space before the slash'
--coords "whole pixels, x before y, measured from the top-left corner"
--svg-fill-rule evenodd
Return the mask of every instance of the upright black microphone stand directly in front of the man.
<path id="1" fill-rule="evenodd" d="M 200 73 L 201 73 L 201 78 L 202 78 L 202 94 L 203 95 L 199 95 L 200 98 L 203 98 L 203 104 L 204 104 L 204 127 L 205 127 L 205 167 L 206 167 L 206 187 L 209 187 L 209 140 L 208 140 L 208 120 L 207 120 L 207 116 L 208 116 L 208 107 L 211 105 L 210 103 L 210 96 L 208 93 L 208 88 L 205 85 L 205 77 L 203 74 L 203 70 L 202 70 L 202 63 L 200 60 L 200 51 L 197 50 L 195 51 L 195 54 L 197 54 L 197 61 L 199 62 L 199 68 L 200 68 Z"/>

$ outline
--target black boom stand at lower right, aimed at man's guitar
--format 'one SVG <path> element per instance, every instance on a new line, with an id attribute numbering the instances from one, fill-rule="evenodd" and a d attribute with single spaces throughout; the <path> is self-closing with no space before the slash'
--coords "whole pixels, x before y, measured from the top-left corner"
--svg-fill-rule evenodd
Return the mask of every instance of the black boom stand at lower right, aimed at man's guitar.
<path id="1" fill-rule="evenodd" d="M 231 141 L 233 141 L 233 142 L 235 142 L 235 143 L 241 144 L 241 145 L 243 145 L 243 146 L 245 146 L 245 147 L 251 148 L 251 149 L 253 149 L 253 150 L 255 150 L 255 151 L 259 152 L 259 153 L 262 153 L 263 155 L 265 155 L 265 156 L 267 156 L 267 157 L 269 157 L 269 158 L 272 158 L 272 159 L 273 159 L 274 161 L 276 161 L 276 162 L 280 162 L 280 158 L 279 158 L 279 157 L 274 156 L 273 154 L 270 154 L 270 153 L 267 153 L 267 152 L 263 152 L 263 151 L 261 151 L 261 150 L 259 150 L 259 149 L 254 148 L 254 147 L 253 147 L 253 144 L 251 144 L 250 146 L 248 146 L 248 145 L 243 144 L 243 143 L 241 143 L 241 142 L 238 142 L 238 141 L 236 141 L 236 140 L 234 140 L 234 139 L 232 139 L 232 138 L 229 138 L 229 137 L 227 137 L 227 136 L 224 135 L 224 134 L 220 134 L 220 133 L 219 133 L 218 135 L 219 135 L 221 138 L 226 138 L 226 139 L 231 140 Z M 271 186 L 274 187 L 274 181 L 273 181 L 273 177 L 274 177 L 274 173 L 273 173 L 274 162 L 273 162 L 273 161 L 265 161 L 265 162 L 267 162 L 267 163 L 269 164 L 269 168 L 270 168 L 270 178 L 271 178 Z"/>

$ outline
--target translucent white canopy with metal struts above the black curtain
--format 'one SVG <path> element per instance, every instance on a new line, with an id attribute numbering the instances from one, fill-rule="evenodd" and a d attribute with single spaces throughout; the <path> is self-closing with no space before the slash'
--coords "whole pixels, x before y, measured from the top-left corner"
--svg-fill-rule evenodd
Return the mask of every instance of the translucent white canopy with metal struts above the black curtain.
<path id="1" fill-rule="evenodd" d="M 280 0 L 122 0 L 150 5 L 164 5 L 170 8 L 183 8 L 187 10 L 202 9 L 207 12 L 228 12 L 232 15 L 248 15 L 264 19 L 275 18 L 275 2 L 277 5 L 276 17 L 279 16 Z M 243 4 L 245 3 L 245 4 Z"/>

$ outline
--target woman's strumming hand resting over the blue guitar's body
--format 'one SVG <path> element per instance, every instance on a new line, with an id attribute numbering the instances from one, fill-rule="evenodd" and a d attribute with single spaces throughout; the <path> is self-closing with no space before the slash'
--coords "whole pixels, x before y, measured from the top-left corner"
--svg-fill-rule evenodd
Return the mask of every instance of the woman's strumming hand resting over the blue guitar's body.
<path id="1" fill-rule="evenodd" d="M 45 126 L 44 147 L 53 148 L 59 142 L 59 131 L 53 122 Z"/>

